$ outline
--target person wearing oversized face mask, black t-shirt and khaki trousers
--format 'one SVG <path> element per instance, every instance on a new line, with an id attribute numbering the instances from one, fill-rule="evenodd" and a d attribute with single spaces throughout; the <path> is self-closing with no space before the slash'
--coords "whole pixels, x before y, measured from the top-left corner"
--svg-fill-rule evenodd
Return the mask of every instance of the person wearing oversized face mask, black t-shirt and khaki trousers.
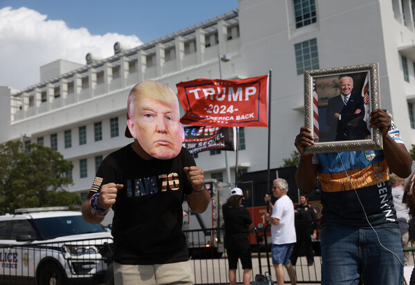
<path id="1" fill-rule="evenodd" d="M 202 169 L 181 146 L 178 99 L 169 86 L 144 81 L 131 89 L 125 136 L 133 143 L 102 161 L 82 216 L 100 223 L 113 209 L 116 284 L 193 284 L 182 203 L 186 198 L 201 213 L 210 194 Z"/>

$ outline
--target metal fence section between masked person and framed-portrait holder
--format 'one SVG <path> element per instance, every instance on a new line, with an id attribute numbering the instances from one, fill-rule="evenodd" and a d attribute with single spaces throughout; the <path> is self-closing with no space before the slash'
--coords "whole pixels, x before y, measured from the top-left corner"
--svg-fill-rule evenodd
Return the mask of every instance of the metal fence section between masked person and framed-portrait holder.
<path id="1" fill-rule="evenodd" d="M 264 230 L 269 234 L 269 228 L 259 229 L 256 235 L 256 246 L 252 247 L 252 280 L 256 275 L 269 273 L 276 280 L 275 270 L 270 257 L 270 243 L 264 238 Z M 223 228 L 208 228 L 204 230 L 186 230 L 190 262 L 194 270 L 195 284 L 229 284 L 228 259 L 223 246 Z M 267 235 L 268 237 L 268 235 Z M 321 282 L 320 241 L 313 242 L 315 248 L 314 262 L 308 266 L 306 257 L 298 257 L 295 266 L 297 283 L 319 284 Z M 284 269 L 285 270 L 285 269 Z M 285 272 L 286 282 L 289 282 Z M 237 269 L 237 283 L 243 282 L 241 263 Z"/>

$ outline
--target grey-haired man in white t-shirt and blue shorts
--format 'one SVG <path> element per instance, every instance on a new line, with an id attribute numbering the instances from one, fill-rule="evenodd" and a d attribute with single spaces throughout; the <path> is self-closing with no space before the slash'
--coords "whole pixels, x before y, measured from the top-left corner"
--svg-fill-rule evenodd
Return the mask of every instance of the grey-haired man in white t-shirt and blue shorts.
<path id="1" fill-rule="evenodd" d="M 297 284 L 295 280 L 295 269 L 291 264 L 291 252 L 295 241 L 294 226 L 294 205 L 290 197 L 287 196 L 288 183 L 285 179 L 275 179 L 273 183 L 273 196 L 277 198 L 275 205 L 270 203 L 271 197 L 265 196 L 266 203 L 270 203 L 273 214 L 266 213 L 267 221 L 271 223 L 271 235 L 273 237 L 273 246 L 271 255 L 275 275 L 277 276 L 278 285 L 284 284 L 284 268 L 286 267 L 291 284 Z"/>

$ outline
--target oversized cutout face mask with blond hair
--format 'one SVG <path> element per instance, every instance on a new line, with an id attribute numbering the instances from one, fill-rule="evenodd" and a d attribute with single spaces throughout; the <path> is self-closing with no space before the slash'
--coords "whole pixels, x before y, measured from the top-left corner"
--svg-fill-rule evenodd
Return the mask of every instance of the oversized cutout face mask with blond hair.
<path id="1" fill-rule="evenodd" d="M 166 84 L 143 81 L 131 89 L 125 136 L 138 140 L 150 156 L 169 159 L 179 154 L 184 140 L 179 120 L 177 96 Z"/>

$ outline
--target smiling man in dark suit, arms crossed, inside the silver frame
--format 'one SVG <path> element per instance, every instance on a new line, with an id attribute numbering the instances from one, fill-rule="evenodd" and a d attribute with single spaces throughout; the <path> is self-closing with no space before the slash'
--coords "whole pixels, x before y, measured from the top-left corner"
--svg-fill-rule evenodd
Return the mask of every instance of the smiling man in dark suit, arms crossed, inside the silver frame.
<path id="1" fill-rule="evenodd" d="M 326 123 L 330 127 L 329 140 L 364 140 L 369 130 L 363 120 L 365 104 L 359 94 L 351 93 L 353 78 L 341 77 L 340 94 L 329 99 Z"/>

